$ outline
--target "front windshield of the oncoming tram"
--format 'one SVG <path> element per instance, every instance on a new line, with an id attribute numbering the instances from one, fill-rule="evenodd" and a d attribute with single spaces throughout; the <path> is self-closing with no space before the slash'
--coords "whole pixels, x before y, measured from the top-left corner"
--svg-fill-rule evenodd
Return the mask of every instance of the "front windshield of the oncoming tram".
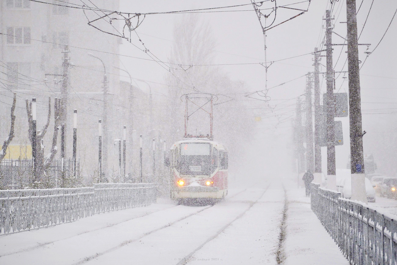
<path id="1" fill-rule="evenodd" d="M 182 175 L 210 175 L 211 144 L 181 143 L 179 173 Z"/>

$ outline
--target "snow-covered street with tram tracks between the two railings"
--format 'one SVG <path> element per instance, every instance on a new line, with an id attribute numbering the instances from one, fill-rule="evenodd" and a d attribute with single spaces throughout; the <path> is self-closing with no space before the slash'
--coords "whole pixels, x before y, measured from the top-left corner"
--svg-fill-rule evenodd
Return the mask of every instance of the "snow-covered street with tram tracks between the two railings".
<path id="1" fill-rule="evenodd" d="M 158 200 L 1 236 L 0 246 L 1 264 L 318 264 L 324 247 L 328 264 L 347 264 L 304 190 L 281 182 L 231 189 L 215 205 Z"/>

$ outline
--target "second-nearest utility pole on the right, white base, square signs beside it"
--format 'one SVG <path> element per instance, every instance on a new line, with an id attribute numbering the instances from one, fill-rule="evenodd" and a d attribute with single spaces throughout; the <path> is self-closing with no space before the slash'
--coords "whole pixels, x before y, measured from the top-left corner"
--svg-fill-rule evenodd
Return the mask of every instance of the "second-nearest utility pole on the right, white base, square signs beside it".
<path id="1" fill-rule="evenodd" d="M 326 10 L 326 45 L 327 45 L 327 188 L 336 190 L 335 165 L 335 100 L 333 97 L 333 65 L 332 65 L 332 23 L 331 10 Z"/>

